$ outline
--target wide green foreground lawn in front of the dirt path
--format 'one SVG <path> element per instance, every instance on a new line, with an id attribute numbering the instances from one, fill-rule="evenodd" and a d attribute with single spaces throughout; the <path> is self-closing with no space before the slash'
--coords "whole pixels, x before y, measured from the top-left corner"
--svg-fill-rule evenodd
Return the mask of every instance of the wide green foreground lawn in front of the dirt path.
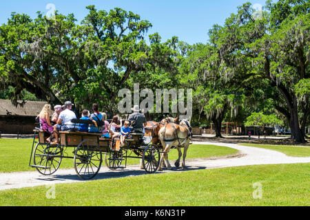
<path id="1" fill-rule="evenodd" d="M 310 164 L 240 166 L 0 191 L 0 206 L 309 206 Z M 261 184 L 261 199 L 254 199 Z"/>

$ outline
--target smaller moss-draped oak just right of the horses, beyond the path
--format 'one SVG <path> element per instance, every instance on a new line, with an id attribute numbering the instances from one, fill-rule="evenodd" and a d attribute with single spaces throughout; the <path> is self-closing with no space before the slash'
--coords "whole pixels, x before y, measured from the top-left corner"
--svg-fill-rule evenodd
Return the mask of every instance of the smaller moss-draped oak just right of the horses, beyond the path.
<path id="1" fill-rule="evenodd" d="M 227 75 L 226 68 L 220 51 L 210 43 L 193 45 L 180 68 L 184 83 L 193 85 L 198 114 L 205 113 L 214 123 L 216 137 L 222 137 L 223 120 L 236 117 L 244 98 L 242 89 L 234 85 L 234 78 Z"/>

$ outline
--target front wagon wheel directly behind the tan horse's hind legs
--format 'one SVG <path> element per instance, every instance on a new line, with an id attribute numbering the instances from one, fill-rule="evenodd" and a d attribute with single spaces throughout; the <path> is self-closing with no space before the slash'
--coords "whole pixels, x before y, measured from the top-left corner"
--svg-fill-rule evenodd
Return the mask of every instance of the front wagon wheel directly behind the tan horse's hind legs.
<path id="1" fill-rule="evenodd" d="M 161 154 L 159 153 L 158 147 L 154 144 L 147 145 L 142 156 L 143 168 L 145 171 L 147 171 L 147 173 L 155 173 L 160 160 Z"/>

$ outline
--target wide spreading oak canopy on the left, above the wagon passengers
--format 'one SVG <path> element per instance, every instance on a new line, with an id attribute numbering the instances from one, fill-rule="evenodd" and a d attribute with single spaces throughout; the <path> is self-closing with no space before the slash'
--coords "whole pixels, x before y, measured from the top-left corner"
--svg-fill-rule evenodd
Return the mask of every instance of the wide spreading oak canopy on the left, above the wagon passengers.
<path id="1" fill-rule="evenodd" d="M 151 45 L 145 43 L 152 24 L 138 14 L 87 9 L 81 25 L 73 14 L 56 12 L 48 19 L 38 12 L 34 20 L 12 13 L 0 26 L 1 88 L 13 88 L 9 96 L 15 104 L 26 89 L 52 104 L 73 99 L 81 109 L 98 102 L 115 113 L 117 92 L 131 74 L 171 66 L 158 34 L 150 36 Z"/>

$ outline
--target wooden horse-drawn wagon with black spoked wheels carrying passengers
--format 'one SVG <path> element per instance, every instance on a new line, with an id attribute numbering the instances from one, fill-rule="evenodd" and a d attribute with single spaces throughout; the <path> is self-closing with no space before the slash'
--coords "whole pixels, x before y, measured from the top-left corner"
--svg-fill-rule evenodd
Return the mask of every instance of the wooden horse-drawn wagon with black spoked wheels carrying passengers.
<path id="1" fill-rule="evenodd" d="M 84 120 L 72 120 L 83 123 Z M 72 129 L 74 130 L 74 129 Z M 61 165 L 63 159 L 73 159 L 76 174 L 81 179 L 94 178 L 101 168 L 103 155 L 108 168 L 116 170 L 127 166 L 127 158 L 142 159 L 147 173 L 156 172 L 161 159 L 161 146 L 145 141 L 152 139 L 152 131 L 130 133 L 127 144 L 121 146 L 118 138 L 101 137 L 101 133 L 79 131 L 59 131 L 59 144 L 47 141 L 52 134 L 36 128 L 30 155 L 29 166 L 36 168 L 43 175 L 52 175 Z M 147 138 L 148 137 L 148 138 Z M 68 149 L 73 156 L 68 155 Z"/>

